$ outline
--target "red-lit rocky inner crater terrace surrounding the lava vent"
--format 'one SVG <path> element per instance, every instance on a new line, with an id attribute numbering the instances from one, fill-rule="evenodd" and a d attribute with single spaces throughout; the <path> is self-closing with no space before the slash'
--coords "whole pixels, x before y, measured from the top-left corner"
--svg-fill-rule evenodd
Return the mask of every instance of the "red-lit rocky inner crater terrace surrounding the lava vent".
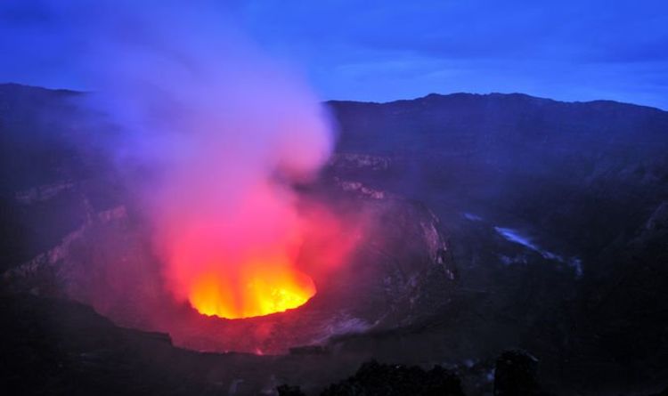
<path id="1" fill-rule="evenodd" d="M 67 196 L 81 201 L 74 206 L 86 221 L 5 279 L 15 289 L 89 304 L 120 326 L 167 333 L 175 345 L 198 351 L 285 353 L 326 347 L 340 335 L 400 327 L 446 301 L 456 271 L 441 225 L 426 206 L 351 179 L 356 172 L 377 172 L 375 166 L 368 158 L 337 156 L 317 182 L 297 186 L 300 199 L 326 203 L 345 224 L 324 227 L 328 238 L 305 238 L 299 247 L 298 260 L 306 262 L 300 265 L 313 276 L 317 293 L 298 307 L 225 319 L 175 302 L 165 279 L 155 275 L 160 258 L 132 203 L 121 193 L 113 206 L 94 207 L 96 197 L 110 192 L 101 186 L 112 180 L 73 182 Z M 336 263 L 314 271 L 322 260 Z M 428 281 L 441 287 L 426 289 Z"/>

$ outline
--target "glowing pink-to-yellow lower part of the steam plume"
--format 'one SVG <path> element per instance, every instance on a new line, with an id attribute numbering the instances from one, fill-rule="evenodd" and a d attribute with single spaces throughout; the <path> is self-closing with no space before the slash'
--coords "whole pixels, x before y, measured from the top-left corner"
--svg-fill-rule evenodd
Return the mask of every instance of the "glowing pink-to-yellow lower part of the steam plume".
<path id="1" fill-rule="evenodd" d="M 311 222 L 281 187 L 262 183 L 249 191 L 226 216 L 193 208 L 169 235 L 167 278 L 175 294 L 204 315 L 267 315 L 315 295 L 313 279 L 297 269 Z"/>

